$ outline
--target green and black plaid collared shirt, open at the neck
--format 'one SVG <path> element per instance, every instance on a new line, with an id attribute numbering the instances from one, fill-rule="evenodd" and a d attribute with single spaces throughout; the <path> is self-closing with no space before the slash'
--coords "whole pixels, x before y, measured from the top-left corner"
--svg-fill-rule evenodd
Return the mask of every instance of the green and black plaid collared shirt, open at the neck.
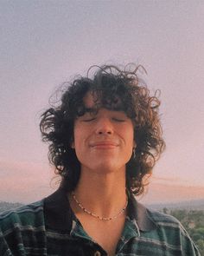
<path id="1" fill-rule="evenodd" d="M 0 255 L 105 256 L 107 253 L 76 219 L 66 191 L 0 215 Z M 150 211 L 133 196 L 116 255 L 198 256 L 188 233 L 175 218 Z"/>

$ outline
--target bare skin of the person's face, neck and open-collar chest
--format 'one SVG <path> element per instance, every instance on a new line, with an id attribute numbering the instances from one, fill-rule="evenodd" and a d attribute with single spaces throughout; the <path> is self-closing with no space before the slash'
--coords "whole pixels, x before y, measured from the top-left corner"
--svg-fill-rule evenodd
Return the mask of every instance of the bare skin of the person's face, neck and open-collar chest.
<path id="1" fill-rule="evenodd" d="M 84 102 L 87 108 L 94 106 L 89 93 Z M 88 211 L 101 217 L 112 217 L 124 208 L 125 164 L 134 147 L 133 124 L 123 111 L 100 108 L 97 115 L 86 113 L 75 120 L 72 148 L 80 161 L 81 172 L 74 194 Z M 68 196 L 86 233 L 108 255 L 115 255 L 126 213 L 114 220 L 99 220 L 85 213 L 72 195 Z"/>

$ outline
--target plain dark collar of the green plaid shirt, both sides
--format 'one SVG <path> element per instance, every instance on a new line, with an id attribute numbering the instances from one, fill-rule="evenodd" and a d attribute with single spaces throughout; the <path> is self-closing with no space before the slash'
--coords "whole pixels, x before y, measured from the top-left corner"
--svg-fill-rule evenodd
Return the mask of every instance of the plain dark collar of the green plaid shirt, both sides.
<path id="1" fill-rule="evenodd" d="M 138 203 L 132 194 L 129 197 L 127 210 L 129 218 L 137 222 L 140 231 L 148 232 L 156 228 L 156 223 L 151 220 L 148 209 Z M 67 191 L 63 187 L 44 199 L 44 217 L 48 229 L 71 232 L 76 217 L 69 205 Z"/>

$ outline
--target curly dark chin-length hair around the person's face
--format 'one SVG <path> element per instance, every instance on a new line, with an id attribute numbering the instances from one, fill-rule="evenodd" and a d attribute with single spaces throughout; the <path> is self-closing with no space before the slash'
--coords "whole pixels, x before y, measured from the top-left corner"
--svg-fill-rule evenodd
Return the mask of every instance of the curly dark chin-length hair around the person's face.
<path id="1" fill-rule="evenodd" d="M 98 69 L 90 78 L 93 68 Z M 156 94 L 150 96 L 150 90 L 139 77 L 139 71 L 145 71 L 140 65 L 131 71 L 127 66 L 122 70 L 112 65 L 90 69 L 86 77 L 78 76 L 73 82 L 65 82 L 60 104 L 41 115 L 42 141 L 50 143 L 49 161 L 55 167 L 55 174 L 61 175 L 61 186 L 72 191 L 80 178 L 80 161 L 71 147 L 73 124 L 88 111 L 83 98 L 92 92 L 96 112 L 99 108 L 120 110 L 133 121 L 137 148 L 126 164 L 126 187 L 135 195 L 143 194 L 145 178 L 151 175 L 165 148 L 158 114 L 160 101 Z"/>

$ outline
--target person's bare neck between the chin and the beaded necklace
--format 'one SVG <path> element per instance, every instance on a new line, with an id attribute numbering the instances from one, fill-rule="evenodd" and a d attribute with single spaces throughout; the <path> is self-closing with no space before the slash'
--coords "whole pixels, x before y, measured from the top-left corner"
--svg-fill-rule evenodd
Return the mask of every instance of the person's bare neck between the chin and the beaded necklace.
<path id="1" fill-rule="evenodd" d="M 125 170 L 108 174 L 81 170 L 74 194 L 88 211 L 105 217 L 115 215 L 126 203 Z"/>

